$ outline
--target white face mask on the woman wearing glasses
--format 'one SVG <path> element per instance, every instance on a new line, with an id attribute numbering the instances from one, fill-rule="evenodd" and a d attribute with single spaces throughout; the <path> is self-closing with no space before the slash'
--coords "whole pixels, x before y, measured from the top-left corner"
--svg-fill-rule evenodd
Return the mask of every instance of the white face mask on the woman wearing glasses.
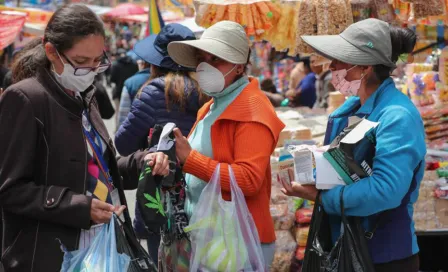
<path id="1" fill-rule="evenodd" d="M 53 74 L 55 75 L 56 80 L 64 86 L 64 88 L 74 91 L 74 92 L 84 92 L 87 90 L 87 88 L 90 87 L 90 85 L 93 84 L 93 81 L 95 79 L 95 76 L 97 75 L 96 72 L 89 72 L 87 75 L 83 76 L 76 76 L 75 75 L 75 68 L 71 66 L 68 63 L 64 63 L 61 56 L 59 55 L 59 59 L 64 64 L 64 70 L 62 71 L 62 74 L 56 73 L 54 67 L 53 67 Z"/>

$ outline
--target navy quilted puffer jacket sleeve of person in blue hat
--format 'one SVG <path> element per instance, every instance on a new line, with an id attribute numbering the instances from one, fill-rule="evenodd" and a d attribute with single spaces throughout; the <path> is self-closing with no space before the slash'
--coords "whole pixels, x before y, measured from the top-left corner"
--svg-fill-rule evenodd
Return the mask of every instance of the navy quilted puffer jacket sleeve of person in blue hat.
<path id="1" fill-rule="evenodd" d="M 141 149 L 142 140 L 154 127 L 158 92 L 157 86 L 149 84 L 140 97 L 134 99 L 130 113 L 115 134 L 115 146 L 122 156 Z"/>

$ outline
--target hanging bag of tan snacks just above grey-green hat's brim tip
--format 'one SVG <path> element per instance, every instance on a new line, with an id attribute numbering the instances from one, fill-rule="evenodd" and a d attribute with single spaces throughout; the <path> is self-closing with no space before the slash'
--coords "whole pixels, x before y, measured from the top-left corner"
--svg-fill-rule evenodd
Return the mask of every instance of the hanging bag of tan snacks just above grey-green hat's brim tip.
<path id="1" fill-rule="evenodd" d="M 317 14 L 315 0 L 300 0 L 298 9 L 298 24 L 296 33 L 296 52 L 312 53 L 309 47 L 300 36 L 317 35 Z"/>

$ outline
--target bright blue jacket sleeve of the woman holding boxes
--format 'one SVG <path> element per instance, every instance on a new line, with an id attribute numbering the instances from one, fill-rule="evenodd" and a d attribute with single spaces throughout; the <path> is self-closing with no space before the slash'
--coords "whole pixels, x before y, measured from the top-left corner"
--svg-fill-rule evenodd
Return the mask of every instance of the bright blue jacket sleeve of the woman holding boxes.
<path id="1" fill-rule="evenodd" d="M 426 154 L 423 122 L 417 111 L 403 106 L 384 109 L 376 129 L 373 174 L 346 186 L 345 212 L 349 216 L 370 216 L 398 207 L 409 191 L 414 170 Z M 325 211 L 340 215 L 341 186 L 322 193 Z"/>

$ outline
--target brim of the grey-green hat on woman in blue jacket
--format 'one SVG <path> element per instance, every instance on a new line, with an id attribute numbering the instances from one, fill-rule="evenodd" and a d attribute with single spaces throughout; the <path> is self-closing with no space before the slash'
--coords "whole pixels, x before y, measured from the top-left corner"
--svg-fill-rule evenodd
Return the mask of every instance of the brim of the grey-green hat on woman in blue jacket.
<path id="1" fill-rule="evenodd" d="M 380 61 L 352 45 L 340 35 L 301 36 L 318 54 L 354 65 L 377 65 Z"/>

